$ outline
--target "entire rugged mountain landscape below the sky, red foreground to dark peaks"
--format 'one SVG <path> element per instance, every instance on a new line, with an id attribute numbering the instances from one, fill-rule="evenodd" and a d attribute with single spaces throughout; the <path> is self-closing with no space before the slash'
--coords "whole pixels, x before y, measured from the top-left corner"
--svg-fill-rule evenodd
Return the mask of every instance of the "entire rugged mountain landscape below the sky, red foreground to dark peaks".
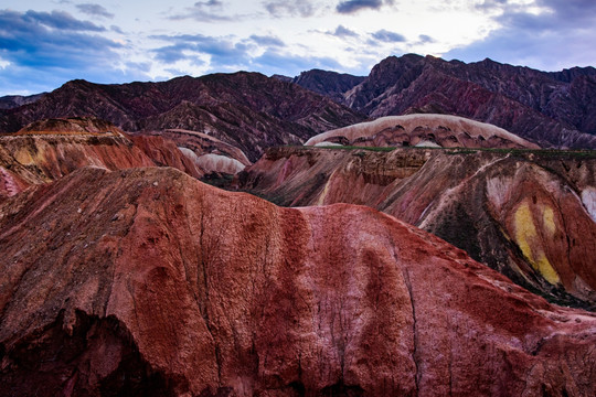
<path id="1" fill-rule="evenodd" d="M 595 81 L 409 54 L 0 98 L 0 396 L 596 395 Z"/>

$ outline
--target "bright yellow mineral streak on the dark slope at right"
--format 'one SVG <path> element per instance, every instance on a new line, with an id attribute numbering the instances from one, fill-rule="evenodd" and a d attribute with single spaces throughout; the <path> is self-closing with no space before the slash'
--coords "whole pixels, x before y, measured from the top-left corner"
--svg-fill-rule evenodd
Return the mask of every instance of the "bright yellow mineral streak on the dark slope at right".
<path id="1" fill-rule="evenodd" d="M 543 218 L 545 221 L 545 227 L 547 228 L 549 233 L 551 233 L 551 225 L 547 224 L 547 221 L 552 223 L 553 232 L 554 233 L 554 214 L 552 208 L 549 211 L 544 211 Z M 532 211 L 530 210 L 530 206 L 528 203 L 522 203 L 518 211 L 515 212 L 515 242 L 518 243 L 519 247 L 521 248 L 523 255 L 528 258 L 530 261 L 530 265 L 544 277 L 546 281 L 549 281 L 552 285 L 555 285 L 560 281 L 558 275 L 556 270 L 553 268 L 553 266 L 549 262 L 549 259 L 546 258 L 546 255 L 544 254 L 544 249 L 540 245 L 535 245 L 539 243 L 539 236 L 536 233 L 536 226 L 534 225 L 534 218 L 532 216 Z M 532 247 L 532 243 L 534 243 L 534 246 Z"/>

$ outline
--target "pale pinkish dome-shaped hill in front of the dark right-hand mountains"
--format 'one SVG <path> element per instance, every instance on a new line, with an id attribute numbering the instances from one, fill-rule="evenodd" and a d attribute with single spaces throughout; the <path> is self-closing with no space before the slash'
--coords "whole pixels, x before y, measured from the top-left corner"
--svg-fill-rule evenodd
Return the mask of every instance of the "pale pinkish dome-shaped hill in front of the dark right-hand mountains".
<path id="1" fill-rule="evenodd" d="M 386 116 L 310 138 L 305 144 L 363 147 L 434 146 L 443 148 L 540 149 L 502 128 L 447 115 Z"/>

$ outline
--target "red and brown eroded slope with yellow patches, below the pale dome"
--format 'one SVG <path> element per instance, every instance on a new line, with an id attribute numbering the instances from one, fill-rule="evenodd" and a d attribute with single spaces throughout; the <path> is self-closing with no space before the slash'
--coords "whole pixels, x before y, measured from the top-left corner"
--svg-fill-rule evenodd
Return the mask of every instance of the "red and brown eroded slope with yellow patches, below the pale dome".
<path id="1" fill-rule="evenodd" d="M 372 206 L 549 299 L 596 305 L 592 152 L 273 149 L 236 183 L 280 205 Z"/>

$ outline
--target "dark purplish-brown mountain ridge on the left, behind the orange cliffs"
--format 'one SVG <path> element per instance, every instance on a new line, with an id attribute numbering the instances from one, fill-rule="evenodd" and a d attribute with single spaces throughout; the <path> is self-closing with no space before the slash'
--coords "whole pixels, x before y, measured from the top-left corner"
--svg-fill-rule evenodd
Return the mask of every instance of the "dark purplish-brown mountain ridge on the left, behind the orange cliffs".
<path id="1" fill-rule="evenodd" d="M 364 116 L 295 84 L 258 73 L 189 76 L 162 83 L 102 85 L 72 81 L 0 115 L 0 131 L 51 117 L 94 116 L 126 131 L 207 133 L 256 161 L 263 148 L 301 143 Z"/>

